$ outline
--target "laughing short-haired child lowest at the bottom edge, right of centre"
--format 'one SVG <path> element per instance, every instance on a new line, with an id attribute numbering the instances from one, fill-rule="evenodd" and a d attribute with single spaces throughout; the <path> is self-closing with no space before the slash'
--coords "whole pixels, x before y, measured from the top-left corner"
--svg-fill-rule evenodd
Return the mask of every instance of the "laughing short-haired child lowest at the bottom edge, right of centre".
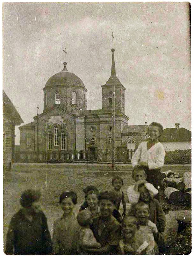
<path id="1" fill-rule="evenodd" d="M 134 216 L 126 216 L 122 222 L 123 239 L 120 240 L 119 246 L 121 253 L 124 255 L 146 254 L 149 244 L 146 241 L 140 241 L 137 237 L 139 229 L 138 219 Z M 142 243 L 141 243 L 142 242 Z M 148 249 L 149 250 L 149 249 Z"/>

